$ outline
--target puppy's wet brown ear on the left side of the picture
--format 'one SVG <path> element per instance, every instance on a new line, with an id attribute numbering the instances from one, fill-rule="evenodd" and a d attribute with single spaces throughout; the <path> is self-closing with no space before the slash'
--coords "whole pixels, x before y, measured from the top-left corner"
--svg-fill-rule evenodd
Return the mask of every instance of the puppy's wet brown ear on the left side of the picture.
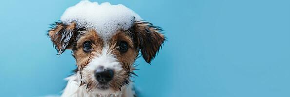
<path id="1" fill-rule="evenodd" d="M 63 24 L 55 22 L 48 31 L 48 36 L 58 51 L 58 55 L 71 48 L 74 42 L 76 23 Z"/>

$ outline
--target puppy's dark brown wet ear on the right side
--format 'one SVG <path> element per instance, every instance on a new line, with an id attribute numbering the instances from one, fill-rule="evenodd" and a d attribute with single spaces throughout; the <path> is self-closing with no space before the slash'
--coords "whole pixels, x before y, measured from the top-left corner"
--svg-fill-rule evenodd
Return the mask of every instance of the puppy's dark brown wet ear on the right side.
<path id="1" fill-rule="evenodd" d="M 150 63 L 165 40 L 164 35 L 159 33 L 162 29 L 145 21 L 136 21 L 132 28 L 143 58 Z"/>

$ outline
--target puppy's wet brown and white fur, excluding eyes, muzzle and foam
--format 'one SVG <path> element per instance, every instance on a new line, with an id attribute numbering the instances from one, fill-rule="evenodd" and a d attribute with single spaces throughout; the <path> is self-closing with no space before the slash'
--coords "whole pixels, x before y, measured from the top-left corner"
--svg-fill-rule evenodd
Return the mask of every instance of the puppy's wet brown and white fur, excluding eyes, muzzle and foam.
<path id="1" fill-rule="evenodd" d="M 101 39 L 95 30 L 88 30 L 84 27 L 76 28 L 76 23 L 74 22 L 70 24 L 56 22 L 52 25 L 52 29 L 48 31 L 48 36 L 51 38 L 58 54 L 63 53 L 66 49 L 72 49 L 72 55 L 77 63 L 76 74 L 67 78 L 68 84 L 62 95 L 63 97 L 72 95 L 76 97 L 98 97 L 105 95 L 110 96 L 111 94 L 117 97 L 135 96 L 134 91 L 127 87 L 128 85 L 131 87 L 131 74 L 136 75 L 133 72 L 133 70 L 135 70 L 133 64 L 138 58 L 139 51 L 145 61 L 150 63 L 161 48 L 165 41 L 165 37 L 159 33 L 162 31 L 160 27 L 153 26 L 151 23 L 145 21 L 135 21 L 134 18 L 133 21 L 135 23 L 130 29 L 120 29 L 116 31 L 116 34 L 108 41 Z M 93 50 L 89 53 L 85 53 L 82 49 L 83 43 L 86 41 L 92 43 Z M 122 53 L 118 51 L 118 44 L 120 41 L 126 41 L 128 43 L 129 49 L 127 52 Z M 105 48 L 106 46 L 107 49 Z M 111 60 L 113 62 L 116 61 L 120 64 L 122 68 L 115 71 L 112 81 L 110 81 L 107 86 L 98 84 L 98 82 L 93 79 L 94 73 L 90 71 L 92 68 L 90 63 L 97 60 L 96 58 L 100 56 L 105 56 L 104 53 L 108 55 L 108 58 L 112 58 Z M 104 93 L 99 90 L 98 88 L 100 86 L 108 87 L 110 93 Z"/>

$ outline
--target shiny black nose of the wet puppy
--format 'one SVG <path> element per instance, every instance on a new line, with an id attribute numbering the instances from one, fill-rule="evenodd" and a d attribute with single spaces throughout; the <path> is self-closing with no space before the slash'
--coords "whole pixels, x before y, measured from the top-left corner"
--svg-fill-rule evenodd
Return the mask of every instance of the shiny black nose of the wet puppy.
<path id="1" fill-rule="evenodd" d="M 112 80 L 114 72 L 111 69 L 104 69 L 102 67 L 95 71 L 95 77 L 100 83 L 107 83 Z"/>

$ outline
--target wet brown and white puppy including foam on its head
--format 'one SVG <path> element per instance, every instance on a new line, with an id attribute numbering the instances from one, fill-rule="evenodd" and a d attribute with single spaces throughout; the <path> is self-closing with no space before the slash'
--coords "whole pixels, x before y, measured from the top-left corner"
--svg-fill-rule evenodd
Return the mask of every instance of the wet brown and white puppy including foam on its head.
<path id="1" fill-rule="evenodd" d="M 124 5 L 82 0 L 52 24 L 58 55 L 72 50 L 75 74 L 61 97 L 136 97 L 130 77 L 139 52 L 150 64 L 165 41 L 162 29 Z"/>

